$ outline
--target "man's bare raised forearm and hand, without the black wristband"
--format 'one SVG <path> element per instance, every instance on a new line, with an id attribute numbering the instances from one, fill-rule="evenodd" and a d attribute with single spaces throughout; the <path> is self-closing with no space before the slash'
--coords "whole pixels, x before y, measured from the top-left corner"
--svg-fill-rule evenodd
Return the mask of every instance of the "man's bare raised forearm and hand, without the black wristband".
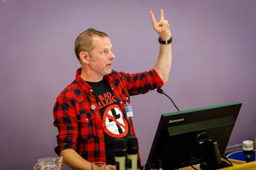
<path id="1" fill-rule="evenodd" d="M 161 40 L 167 41 L 171 38 L 170 25 L 167 20 L 164 19 L 164 11 L 160 10 L 160 20 L 156 21 L 152 11 L 149 12 L 154 30 L 159 34 Z M 158 59 L 156 61 L 154 69 L 163 80 L 168 81 L 170 69 L 171 69 L 171 44 L 160 44 L 160 50 Z"/>

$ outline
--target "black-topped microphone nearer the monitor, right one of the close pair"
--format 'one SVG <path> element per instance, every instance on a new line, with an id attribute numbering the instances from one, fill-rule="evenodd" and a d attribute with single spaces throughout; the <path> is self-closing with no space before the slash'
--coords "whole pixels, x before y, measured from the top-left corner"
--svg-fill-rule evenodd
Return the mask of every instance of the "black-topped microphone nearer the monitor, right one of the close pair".
<path id="1" fill-rule="evenodd" d="M 137 170 L 138 161 L 138 140 L 135 136 L 127 138 L 127 166 L 128 170 Z"/>

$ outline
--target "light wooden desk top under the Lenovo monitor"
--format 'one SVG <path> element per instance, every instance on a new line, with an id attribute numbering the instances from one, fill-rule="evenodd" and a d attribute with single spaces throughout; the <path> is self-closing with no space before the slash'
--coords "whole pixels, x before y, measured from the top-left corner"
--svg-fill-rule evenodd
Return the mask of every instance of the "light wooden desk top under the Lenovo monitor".
<path id="1" fill-rule="evenodd" d="M 233 163 L 233 167 L 222 168 L 221 170 L 256 170 L 256 161 L 245 163 L 245 161 L 229 159 Z M 194 167 L 200 170 L 199 165 Z M 194 170 L 192 167 L 180 168 L 180 170 Z"/>

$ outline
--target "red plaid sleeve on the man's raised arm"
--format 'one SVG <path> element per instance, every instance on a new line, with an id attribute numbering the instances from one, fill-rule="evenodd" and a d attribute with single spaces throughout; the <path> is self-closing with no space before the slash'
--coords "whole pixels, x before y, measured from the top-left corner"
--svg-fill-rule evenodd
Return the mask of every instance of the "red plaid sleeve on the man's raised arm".
<path id="1" fill-rule="evenodd" d="M 164 84 L 154 69 L 135 74 L 124 72 L 121 72 L 121 74 L 126 81 L 126 88 L 129 95 L 144 94 L 149 90 L 160 88 Z"/>

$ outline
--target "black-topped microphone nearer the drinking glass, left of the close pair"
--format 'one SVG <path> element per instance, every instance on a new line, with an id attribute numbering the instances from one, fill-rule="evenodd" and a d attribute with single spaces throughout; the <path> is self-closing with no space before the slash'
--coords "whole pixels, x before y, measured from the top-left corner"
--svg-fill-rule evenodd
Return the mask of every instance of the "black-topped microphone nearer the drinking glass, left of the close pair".
<path id="1" fill-rule="evenodd" d="M 114 155 L 117 170 L 125 170 L 127 149 L 124 139 L 116 139 L 114 142 Z"/>

